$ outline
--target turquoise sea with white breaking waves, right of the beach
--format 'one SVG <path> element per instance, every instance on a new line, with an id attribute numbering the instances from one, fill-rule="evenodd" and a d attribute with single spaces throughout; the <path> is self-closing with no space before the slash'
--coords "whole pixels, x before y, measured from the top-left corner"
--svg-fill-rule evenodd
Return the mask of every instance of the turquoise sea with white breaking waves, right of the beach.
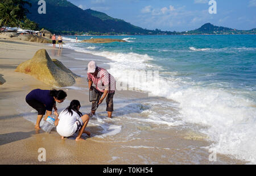
<path id="1" fill-rule="evenodd" d="M 174 100 L 179 114 L 176 121 L 168 108 L 162 116 L 155 110 L 151 122 L 201 125 L 197 130 L 215 141 L 210 148 L 256 163 L 255 35 L 78 36 L 127 41 L 109 44 L 76 43 L 75 37 L 64 36 L 65 47 L 109 58 L 120 82 L 127 74 L 158 71 L 158 86 L 142 79 L 140 89 Z"/>

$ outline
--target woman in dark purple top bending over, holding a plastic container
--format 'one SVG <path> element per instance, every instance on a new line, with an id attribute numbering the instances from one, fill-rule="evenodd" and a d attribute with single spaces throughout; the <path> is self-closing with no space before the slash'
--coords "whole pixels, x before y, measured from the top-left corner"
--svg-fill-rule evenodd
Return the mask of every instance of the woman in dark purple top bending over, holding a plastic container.
<path id="1" fill-rule="evenodd" d="M 56 102 L 62 103 L 67 97 L 67 93 L 63 90 L 41 90 L 34 89 L 26 96 L 26 102 L 36 111 L 38 111 L 38 119 L 36 120 L 35 129 L 40 129 L 40 121 L 44 114 L 45 120 L 52 114 L 52 108 L 57 111 Z"/>

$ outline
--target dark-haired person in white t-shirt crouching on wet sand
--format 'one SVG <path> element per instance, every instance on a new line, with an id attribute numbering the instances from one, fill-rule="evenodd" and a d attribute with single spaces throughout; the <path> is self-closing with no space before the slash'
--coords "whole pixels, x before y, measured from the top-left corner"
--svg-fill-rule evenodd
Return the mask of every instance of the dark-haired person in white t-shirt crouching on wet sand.
<path id="1" fill-rule="evenodd" d="M 70 105 L 65 108 L 65 110 L 60 112 L 60 115 L 56 115 L 55 126 L 56 131 L 61 136 L 61 139 L 64 137 L 73 136 L 76 132 L 78 136 L 76 137 L 76 141 L 84 140 L 81 138 L 82 133 L 86 133 L 90 136 L 89 131 L 85 131 L 85 127 L 89 122 L 88 114 L 82 115 L 79 111 L 81 105 L 79 100 L 72 100 Z"/>

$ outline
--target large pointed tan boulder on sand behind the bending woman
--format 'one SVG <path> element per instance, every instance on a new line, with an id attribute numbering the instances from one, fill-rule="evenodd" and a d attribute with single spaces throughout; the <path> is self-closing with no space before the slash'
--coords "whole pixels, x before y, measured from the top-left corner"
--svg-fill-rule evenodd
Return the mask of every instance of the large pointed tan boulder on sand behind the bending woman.
<path id="1" fill-rule="evenodd" d="M 76 82 L 75 78 L 77 77 L 75 73 L 71 72 L 60 61 L 52 61 L 46 49 L 40 49 L 33 58 L 22 62 L 15 72 L 30 74 L 47 85 L 56 87 L 71 86 Z"/>

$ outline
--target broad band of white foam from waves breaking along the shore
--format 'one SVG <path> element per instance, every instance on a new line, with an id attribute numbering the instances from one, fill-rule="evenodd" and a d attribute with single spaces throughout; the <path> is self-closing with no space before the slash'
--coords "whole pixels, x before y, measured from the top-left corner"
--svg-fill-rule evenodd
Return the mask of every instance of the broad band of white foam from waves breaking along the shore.
<path id="1" fill-rule="evenodd" d="M 132 55 L 133 57 L 130 57 Z M 151 60 L 149 56 L 135 53 L 106 53 L 114 63 L 111 72 L 118 81 L 126 82 L 125 75 L 133 75 L 138 70 L 150 68 L 145 63 Z M 128 62 L 129 60 L 129 62 Z M 123 63 L 123 64 L 122 64 Z M 154 68 L 154 66 L 152 67 Z M 196 82 L 187 82 L 175 76 L 159 77 L 159 89 L 155 89 L 154 82 L 141 83 L 144 91 L 153 95 L 166 97 L 179 102 L 180 114 L 184 122 L 207 126 L 207 130 L 201 131 L 214 141 L 210 146 L 218 153 L 231 154 L 234 157 L 255 163 L 256 151 L 256 121 L 255 103 L 251 99 L 234 94 L 223 89 L 197 86 Z M 138 82 L 129 82 L 133 87 Z M 143 119 L 148 123 L 167 124 L 170 126 L 183 124 L 180 121 L 161 119 L 158 115 L 151 115 Z M 142 119 L 139 119 L 142 120 Z M 242 139 L 240 139 L 242 137 Z"/>

